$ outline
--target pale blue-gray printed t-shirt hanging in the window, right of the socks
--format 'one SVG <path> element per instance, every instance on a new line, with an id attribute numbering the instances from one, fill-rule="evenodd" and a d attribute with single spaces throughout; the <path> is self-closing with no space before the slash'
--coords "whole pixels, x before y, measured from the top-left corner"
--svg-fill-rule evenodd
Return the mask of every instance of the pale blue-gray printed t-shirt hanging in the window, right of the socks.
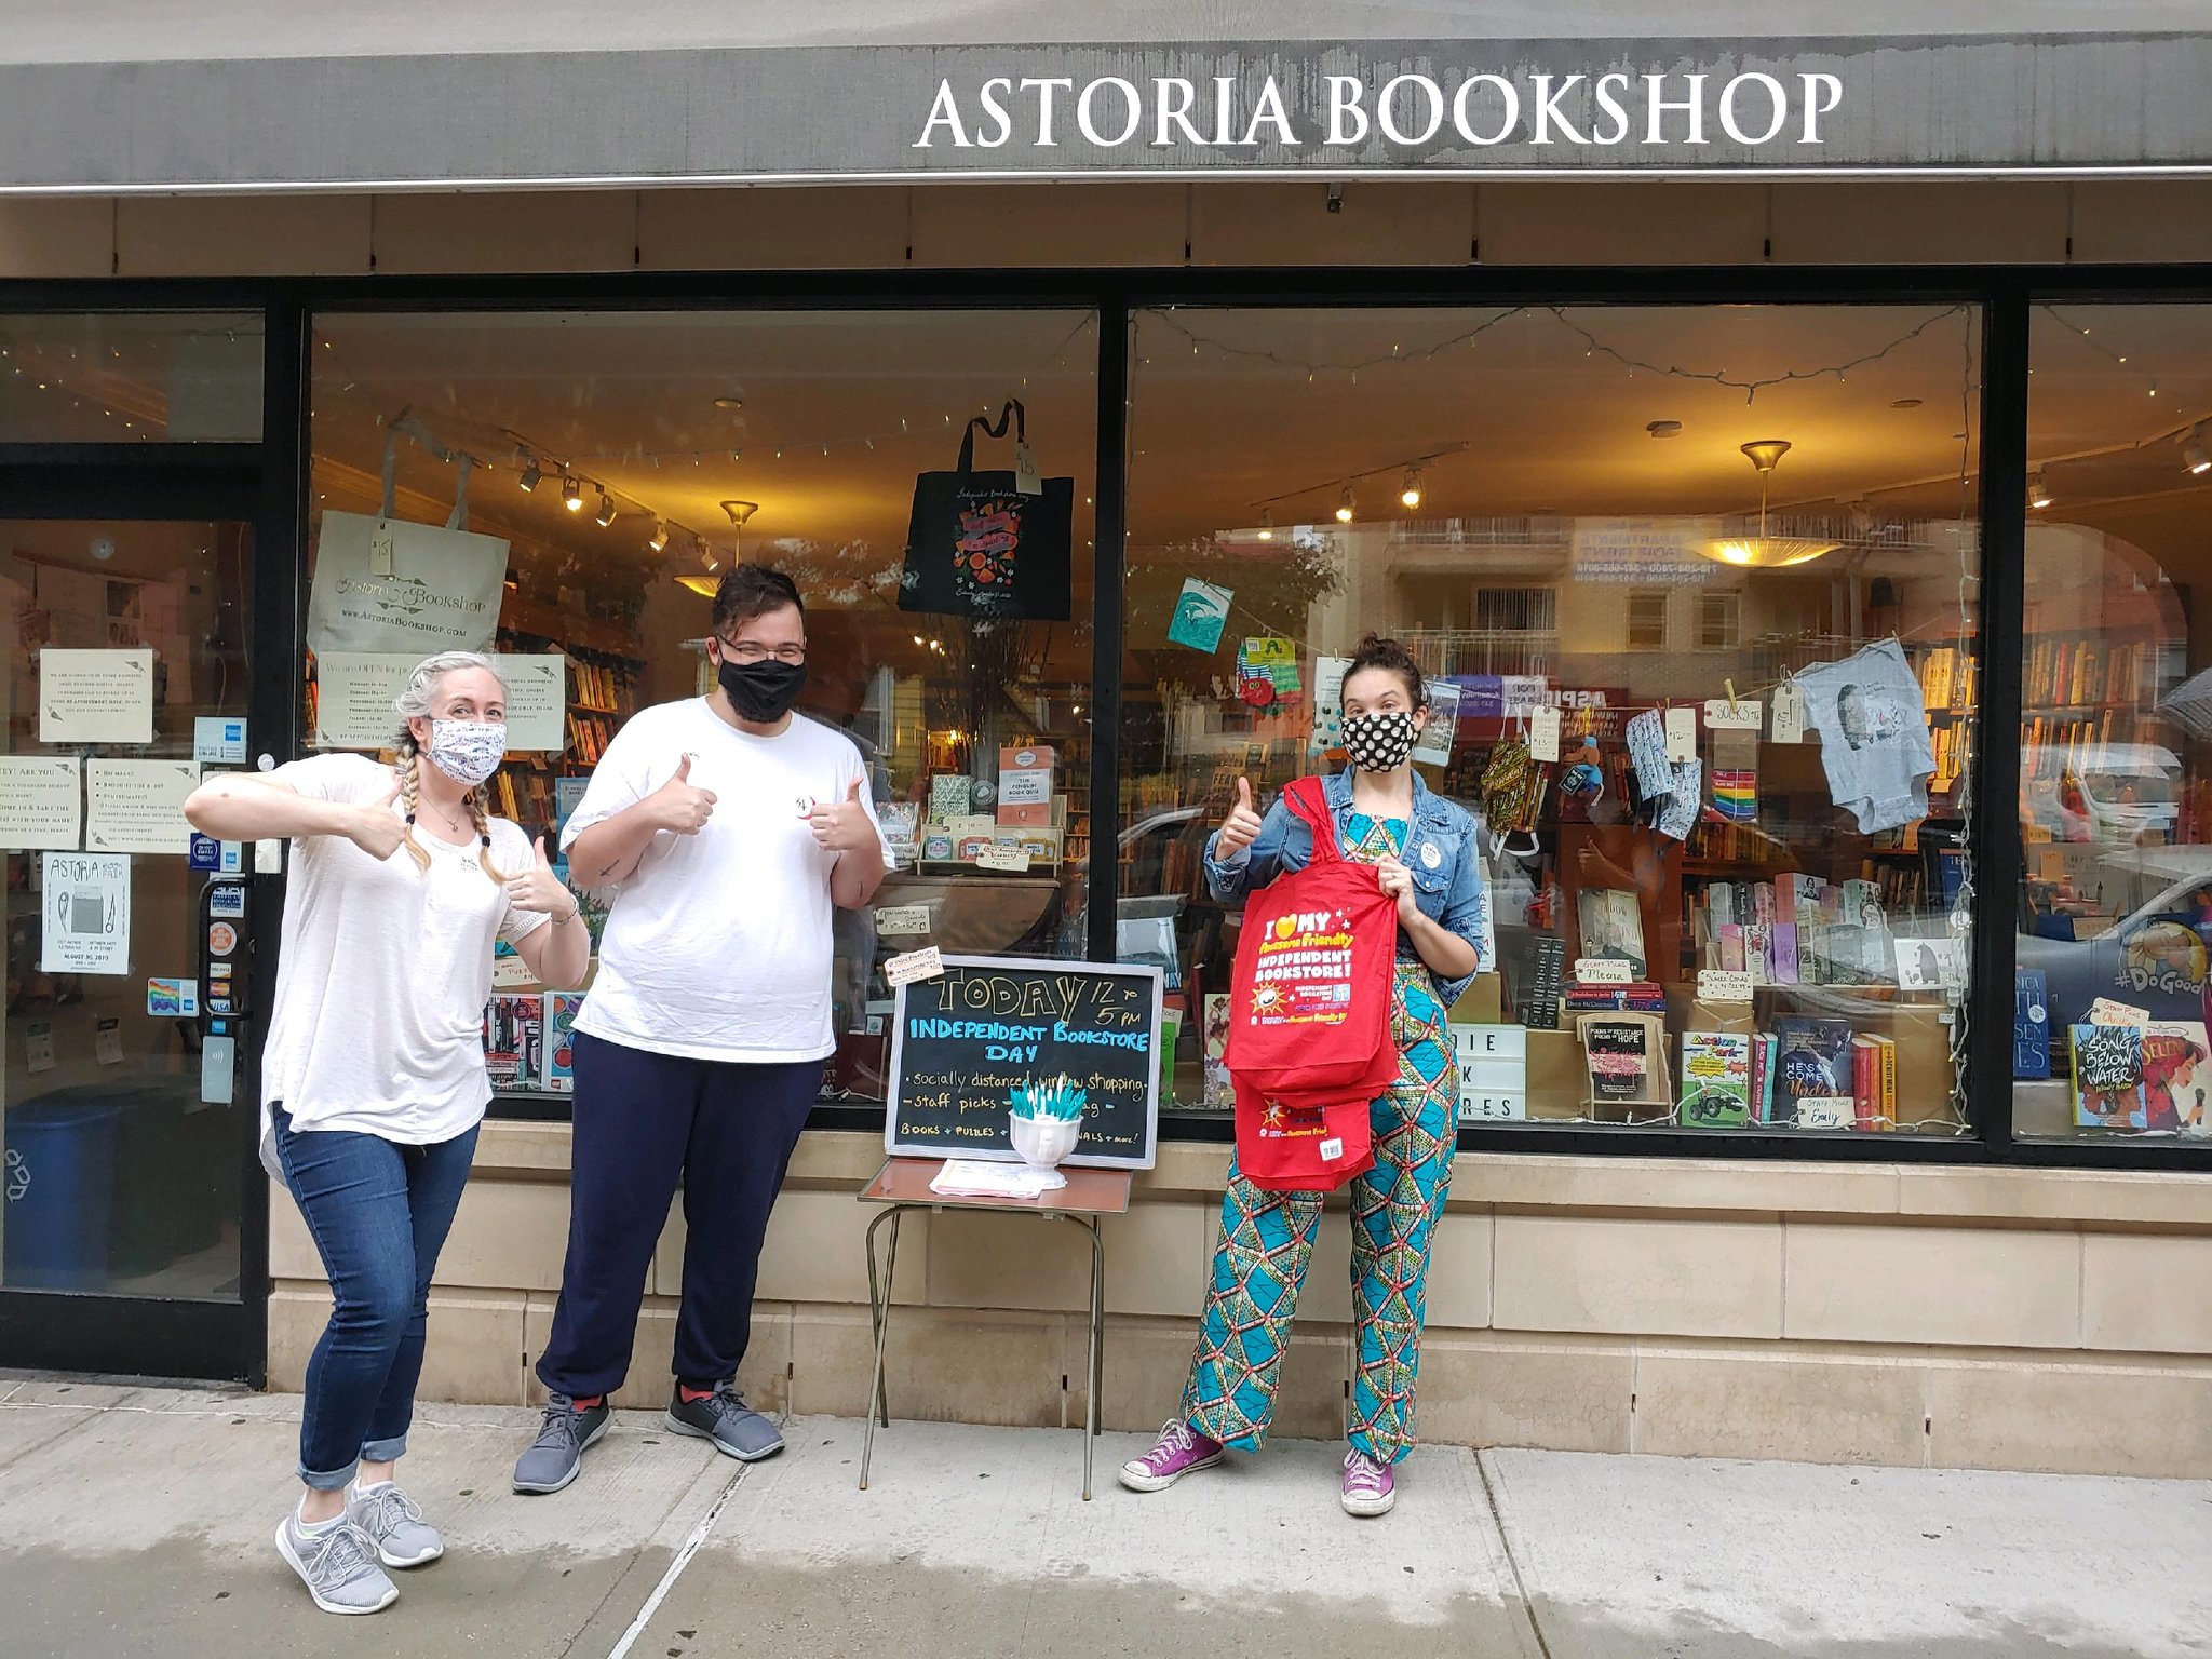
<path id="1" fill-rule="evenodd" d="M 1807 668 L 1794 684 L 1820 732 L 1827 792 L 1858 816 L 1858 832 L 1871 836 L 1924 818 L 1936 745 L 1905 648 L 1878 639 L 1843 661 Z"/>

